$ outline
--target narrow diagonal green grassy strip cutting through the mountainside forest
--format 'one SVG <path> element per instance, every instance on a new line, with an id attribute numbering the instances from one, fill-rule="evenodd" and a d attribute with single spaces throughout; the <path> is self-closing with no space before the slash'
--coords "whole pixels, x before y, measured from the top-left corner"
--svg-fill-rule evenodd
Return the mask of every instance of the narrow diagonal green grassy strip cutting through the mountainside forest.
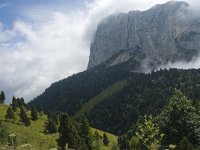
<path id="1" fill-rule="evenodd" d="M 111 85 L 107 89 L 103 90 L 97 96 L 91 98 L 88 102 L 82 105 L 81 109 L 73 116 L 73 118 L 80 117 L 81 114 L 90 112 L 97 104 L 99 104 L 104 99 L 112 96 L 113 94 L 121 91 L 127 85 L 127 81 L 119 81 Z"/>

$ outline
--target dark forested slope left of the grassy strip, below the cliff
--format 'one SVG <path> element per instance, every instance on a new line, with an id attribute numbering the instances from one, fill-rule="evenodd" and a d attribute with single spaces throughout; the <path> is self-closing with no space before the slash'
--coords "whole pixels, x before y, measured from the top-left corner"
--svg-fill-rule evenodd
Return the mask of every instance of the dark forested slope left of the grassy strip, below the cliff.
<path id="1" fill-rule="evenodd" d="M 29 106 L 41 107 L 46 111 L 65 111 L 75 115 L 81 106 L 117 81 L 127 79 L 128 69 L 102 66 L 84 71 L 52 84 L 45 92 L 31 101 Z"/>

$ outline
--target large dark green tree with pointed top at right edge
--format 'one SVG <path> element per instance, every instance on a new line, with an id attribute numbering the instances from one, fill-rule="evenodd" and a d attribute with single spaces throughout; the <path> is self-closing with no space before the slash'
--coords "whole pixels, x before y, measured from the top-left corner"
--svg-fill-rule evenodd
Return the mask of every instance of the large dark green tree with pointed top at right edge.
<path id="1" fill-rule="evenodd" d="M 191 101 L 180 91 L 175 91 L 158 118 L 166 135 L 164 143 L 178 144 L 183 137 L 187 137 L 190 142 L 200 144 L 200 117 Z"/>

